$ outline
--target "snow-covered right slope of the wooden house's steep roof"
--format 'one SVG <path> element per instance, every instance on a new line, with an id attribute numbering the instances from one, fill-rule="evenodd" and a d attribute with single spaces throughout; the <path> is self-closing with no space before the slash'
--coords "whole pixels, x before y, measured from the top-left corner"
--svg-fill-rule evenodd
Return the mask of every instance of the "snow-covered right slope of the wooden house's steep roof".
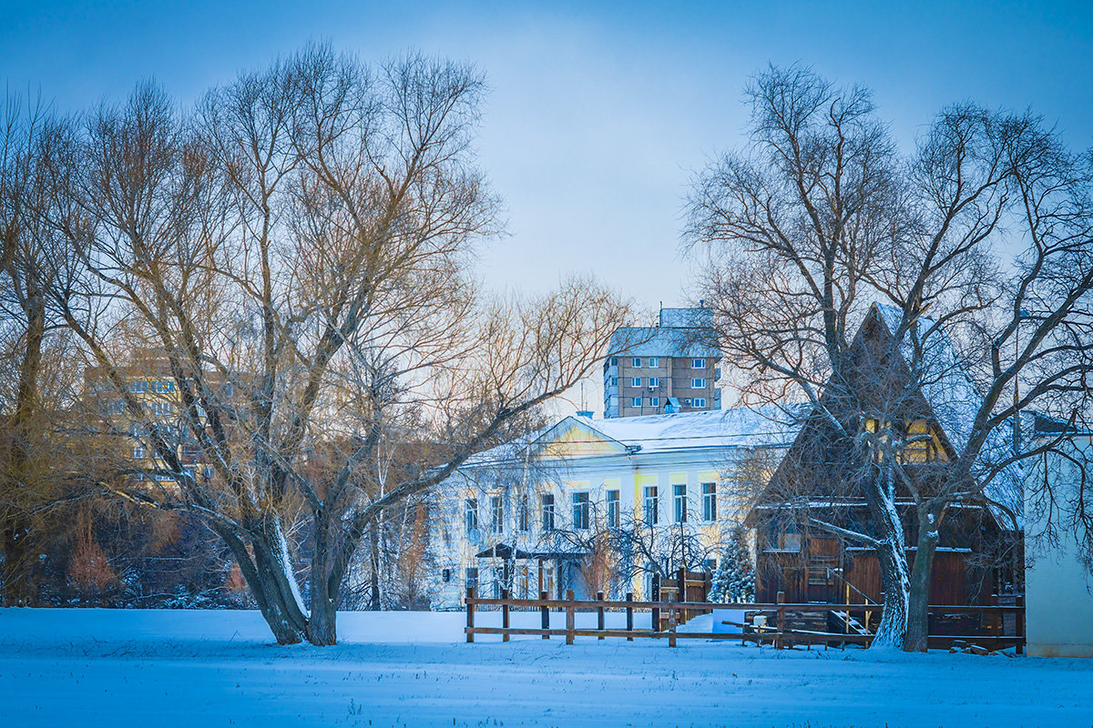
<path id="1" fill-rule="evenodd" d="M 903 311 L 893 306 L 873 303 L 880 321 L 889 334 L 895 335 L 900 327 Z M 956 347 L 949 334 L 936 321 L 919 318 L 914 326 L 921 332 L 921 361 L 916 361 L 914 331 L 908 331 L 900 343 L 900 350 L 908 367 L 917 367 L 913 372 L 921 383 L 922 397 L 926 399 L 944 435 L 957 455 L 962 455 L 972 437 L 972 427 L 976 414 L 983 406 L 983 395 L 976 387 L 964 367 Z M 979 452 L 977 462 L 998 463 L 1013 452 L 1012 428 L 996 427 L 987 435 Z M 1024 527 L 1024 474 L 1019 464 L 1012 463 L 998 473 L 984 488 L 984 496 L 994 503 L 1003 506 L 1013 514 L 1018 528 Z M 991 509 L 999 523 L 1011 521 L 1004 511 Z"/>

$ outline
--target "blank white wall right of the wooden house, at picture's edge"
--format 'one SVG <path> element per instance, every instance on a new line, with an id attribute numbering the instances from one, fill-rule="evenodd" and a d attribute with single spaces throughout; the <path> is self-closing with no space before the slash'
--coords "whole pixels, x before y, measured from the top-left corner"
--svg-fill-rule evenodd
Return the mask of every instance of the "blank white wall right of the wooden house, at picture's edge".
<path id="1" fill-rule="evenodd" d="M 1093 460 L 1091 438 L 1074 442 L 1074 454 Z M 1048 457 L 1048 478 L 1061 496 L 1069 500 L 1079 481 L 1078 466 L 1058 456 Z M 1086 470 L 1093 477 L 1093 472 Z M 1032 468 L 1030 486 L 1042 482 L 1043 461 Z M 1026 561 L 1025 605 L 1029 654 L 1043 657 L 1093 657 L 1093 576 L 1078 559 L 1078 542 L 1073 533 L 1062 533 L 1057 547 L 1037 539 L 1047 514 L 1034 487 L 1026 489 Z M 1065 513 L 1061 515 L 1066 523 Z"/>

